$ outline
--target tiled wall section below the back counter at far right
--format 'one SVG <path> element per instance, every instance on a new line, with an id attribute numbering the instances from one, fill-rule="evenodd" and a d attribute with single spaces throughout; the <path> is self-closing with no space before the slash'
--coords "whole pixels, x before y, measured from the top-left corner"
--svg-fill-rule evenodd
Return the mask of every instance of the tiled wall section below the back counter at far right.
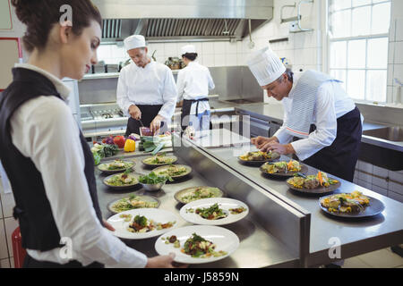
<path id="1" fill-rule="evenodd" d="M 403 171 L 392 172 L 373 164 L 358 161 L 354 183 L 403 203 Z"/>

